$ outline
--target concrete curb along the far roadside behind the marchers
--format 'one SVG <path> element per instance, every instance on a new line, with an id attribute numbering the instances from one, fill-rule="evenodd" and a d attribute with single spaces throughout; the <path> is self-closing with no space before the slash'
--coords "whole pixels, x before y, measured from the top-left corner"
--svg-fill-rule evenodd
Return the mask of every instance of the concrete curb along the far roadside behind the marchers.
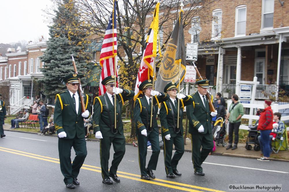
<path id="1" fill-rule="evenodd" d="M 28 131 L 18 131 L 18 130 L 11 130 L 11 129 L 4 129 L 5 131 L 12 131 L 12 132 L 19 132 L 19 133 L 30 133 L 30 134 L 38 134 L 34 132 L 28 132 Z M 45 136 L 51 136 L 51 137 L 57 137 L 57 135 L 45 135 Z M 97 141 L 99 142 L 99 139 L 86 139 L 86 141 Z M 133 145 L 132 143 L 125 143 L 126 145 Z M 185 152 L 192 152 L 191 150 L 186 150 Z M 217 153 L 217 152 L 211 152 L 211 155 L 219 155 L 219 156 L 230 156 L 230 157 L 242 157 L 242 158 L 249 158 L 249 159 L 259 159 L 260 156 L 254 156 L 254 155 L 243 155 L 243 154 L 232 154 L 232 153 Z M 288 159 L 275 159 L 275 158 L 269 158 L 269 160 L 272 161 L 284 161 L 289 162 Z"/>

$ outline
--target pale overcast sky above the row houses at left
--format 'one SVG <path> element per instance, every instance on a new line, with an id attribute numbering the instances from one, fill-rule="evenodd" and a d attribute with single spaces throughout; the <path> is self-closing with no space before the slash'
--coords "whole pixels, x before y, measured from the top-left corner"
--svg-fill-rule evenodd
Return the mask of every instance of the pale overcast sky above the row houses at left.
<path id="1" fill-rule="evenodd" d="M 42 9 L 51 6 L 50 0 L 5 0 L 0 2 L 0 43 L 49 38 L 48 23 Z"/>

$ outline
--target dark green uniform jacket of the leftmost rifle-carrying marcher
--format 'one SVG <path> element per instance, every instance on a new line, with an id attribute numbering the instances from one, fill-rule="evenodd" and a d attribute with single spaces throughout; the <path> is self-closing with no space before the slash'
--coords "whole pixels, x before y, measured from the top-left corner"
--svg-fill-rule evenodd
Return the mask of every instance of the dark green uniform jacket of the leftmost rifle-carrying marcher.
<path id="1" fill-rule="evenodd" d="M 84 138 L 84 122 L 81 116 L 81 103 L 79 98 L 78 113 L 76 113 L 74 103 L 69 91 L 57 94 L 55 97 L 54 126 L 59 134 L 65 131 L 66 137 L 63 139 Z M 89 110 L 88 95 L 84 96 L 85 109 Z"/>

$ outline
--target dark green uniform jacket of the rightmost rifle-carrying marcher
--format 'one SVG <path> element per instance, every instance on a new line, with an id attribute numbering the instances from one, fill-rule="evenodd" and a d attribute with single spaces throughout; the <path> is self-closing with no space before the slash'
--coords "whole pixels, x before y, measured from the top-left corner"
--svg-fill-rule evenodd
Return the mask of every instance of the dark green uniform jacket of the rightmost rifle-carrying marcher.
<path id="1" fill-rule="evenodd" d="M 190 134 L 206 134 L 212 133 L 212 116 L 209 108 L 209 101 L 207 100 L 207 107 L 203 105 L 201 97 L 198 92 L 191 95 L 193 98 L 193 105 L 186 107 L 187 117 L 189 119 L 189 133 Z M 199 133 L 198 128 L 203 125 L 204 132 Z"/>

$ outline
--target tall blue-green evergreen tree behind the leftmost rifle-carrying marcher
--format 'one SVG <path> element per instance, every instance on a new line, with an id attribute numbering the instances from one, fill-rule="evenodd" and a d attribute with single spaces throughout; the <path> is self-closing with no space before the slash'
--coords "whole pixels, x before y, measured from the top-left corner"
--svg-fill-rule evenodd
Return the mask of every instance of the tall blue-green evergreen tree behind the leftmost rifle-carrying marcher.
<path id="1" fill-rule="evenodd" d="M 82 74 L 81 84 L 86 84 L 86 74 L 92 69 L 87 49 L 89 32 L 85 31 L 85 22 L 80 20 L 74 0 L 58 1 L 58 10 L 53 25 L 50 26 L 50 38 L 47 49 L 41 57 L 45 67 L 41 69 L 44 77 L 39 81 L 43 85 L 45 95 L 54 97 L 66 90 L 62 79 L 74 73 L 72 57 L 74 56 L 77 71 Z"/>

